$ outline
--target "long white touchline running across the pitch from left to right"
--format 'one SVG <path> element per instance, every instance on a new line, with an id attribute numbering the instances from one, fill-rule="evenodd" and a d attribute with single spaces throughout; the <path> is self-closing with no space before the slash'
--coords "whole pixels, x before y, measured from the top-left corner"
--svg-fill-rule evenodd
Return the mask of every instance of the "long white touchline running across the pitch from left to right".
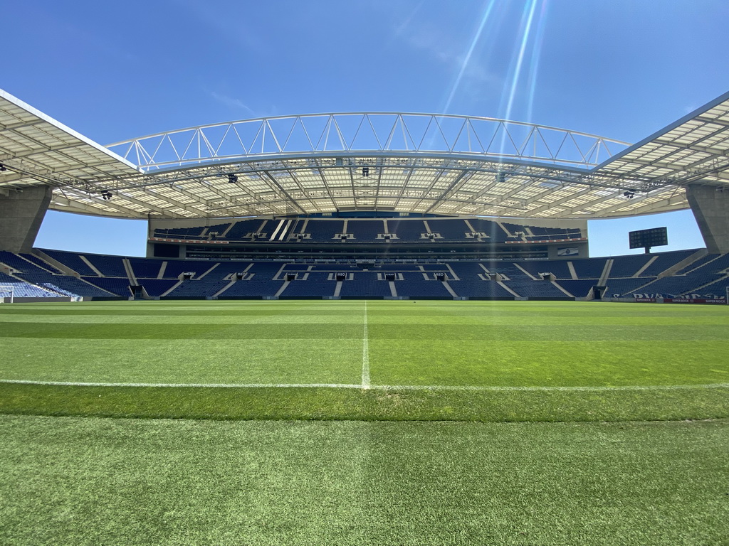
<path id="1" fill-rule="evenodd" d="M 25 379 L 0 379 L 5 384 L 60 385 L 65 387 L 215 387 L 215 388 L 324 388 L 362 389 L 362 384 L 348 383 L 103 383 L 83 381 L 31 381 Z M 620 387 L 477 387 L 469 385 L 368 385 L 375 390 L 453 390 L 453 391 L 629 391 L 629 390 L 685 390 L 685 389 L 727 389 L 729 383 L 697 385 L 623 385 Z"/>

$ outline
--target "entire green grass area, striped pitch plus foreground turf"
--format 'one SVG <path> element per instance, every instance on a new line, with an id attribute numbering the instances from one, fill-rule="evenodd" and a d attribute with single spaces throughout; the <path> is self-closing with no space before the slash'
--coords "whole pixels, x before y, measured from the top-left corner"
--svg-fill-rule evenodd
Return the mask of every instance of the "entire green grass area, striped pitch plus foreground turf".
<path id="1" fill-rule="evenodd" d="M 728 334 L 725 306 L 0 305 L 0 544 L 728 544 Z"/>

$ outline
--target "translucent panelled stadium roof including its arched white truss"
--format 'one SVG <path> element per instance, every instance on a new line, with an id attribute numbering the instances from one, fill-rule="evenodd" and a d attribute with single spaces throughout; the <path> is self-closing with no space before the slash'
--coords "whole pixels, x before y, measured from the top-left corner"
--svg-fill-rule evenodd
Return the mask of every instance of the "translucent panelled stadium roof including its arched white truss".
<path id="1" fill-rule="evenodd" d="M 688 207 L 687 184 L 729 186 L 728 152 L 729 93 L 634 146 L 500 119 L 361 112 L 211 124 L 104 148 L 0 91 L 0 191 L 47 184 L 54 210 L 120 218 L 659 213 Z"/>

